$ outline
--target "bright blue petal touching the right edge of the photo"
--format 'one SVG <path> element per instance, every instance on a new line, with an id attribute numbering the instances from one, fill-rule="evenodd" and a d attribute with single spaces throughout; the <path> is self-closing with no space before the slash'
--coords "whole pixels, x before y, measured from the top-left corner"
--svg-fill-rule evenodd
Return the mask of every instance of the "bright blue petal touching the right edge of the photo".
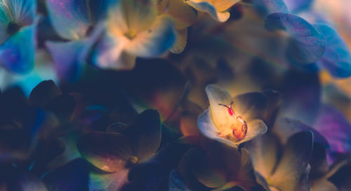
<path id="1" fill-rule="evenodd" d="M 324 36 L 326 50 L 317 64 L 327 69 L 334 77 L 346 78 L 351 76 L 351 55 L 343 38 L 331 27 L 325 24 L 314 24 L 314 27 Z"/>

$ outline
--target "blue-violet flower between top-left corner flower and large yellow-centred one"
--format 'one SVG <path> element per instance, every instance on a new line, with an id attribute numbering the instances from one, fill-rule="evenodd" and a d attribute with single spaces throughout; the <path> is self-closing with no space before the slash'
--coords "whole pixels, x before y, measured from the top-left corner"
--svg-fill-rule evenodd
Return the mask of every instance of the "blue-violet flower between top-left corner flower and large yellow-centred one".
<path id="1" fill-rule="evenodd" d="M 47 41 L 55 70 L 62 81 L 76 81 L 84 71 L 88 53 L 103 34 L 112 1 L 46 0 L 53 28 L 70 41 Z"/>

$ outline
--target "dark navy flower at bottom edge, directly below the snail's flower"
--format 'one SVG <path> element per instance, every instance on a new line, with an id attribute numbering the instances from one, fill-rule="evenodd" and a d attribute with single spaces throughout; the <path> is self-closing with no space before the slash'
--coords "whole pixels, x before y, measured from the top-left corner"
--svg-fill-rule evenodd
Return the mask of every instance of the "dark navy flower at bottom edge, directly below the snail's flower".
<path id="1" fill-rule="evenodd" d="M 207 138 L 202 140 L 201 146 L 190 148 L 183 155 L 178 171 L 185 185 L 192 190 L 229 190 L 237 186 L 251 190 L 259 187 L 246 149 L 239 153 L 237 148 Z"/>

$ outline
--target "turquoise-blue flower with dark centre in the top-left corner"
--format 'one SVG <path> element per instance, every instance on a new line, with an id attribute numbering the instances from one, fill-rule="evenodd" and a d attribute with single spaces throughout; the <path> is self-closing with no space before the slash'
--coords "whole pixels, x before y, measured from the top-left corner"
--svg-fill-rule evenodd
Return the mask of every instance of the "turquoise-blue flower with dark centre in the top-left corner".
<path id="1" fill-rule="evenodd" d="M 26 73 L 34 66 L 37 3 L 35 0 L 0 1 L 0 64 Z"/>

